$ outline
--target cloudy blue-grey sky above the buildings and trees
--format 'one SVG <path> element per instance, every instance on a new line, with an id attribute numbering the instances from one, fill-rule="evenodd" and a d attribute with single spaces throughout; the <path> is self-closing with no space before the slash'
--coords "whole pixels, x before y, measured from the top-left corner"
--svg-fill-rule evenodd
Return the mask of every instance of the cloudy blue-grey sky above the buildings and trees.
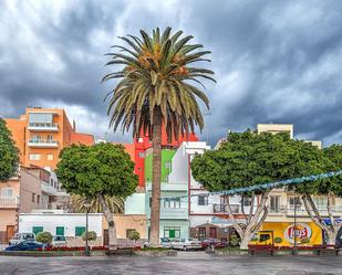
<path id="1" fill-rule="evenodd" d="M 294 124 L 299 138 L 342 141 L 342 1 L 2 0 L 0 114 L 63 107 L 80 131 L 117 141 L 100 84 L 117 36 L 155 27 L 193 34 L 213 51 L 211 110 L 201 134 Z"/>

